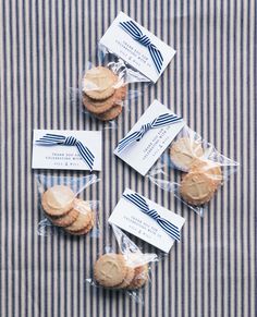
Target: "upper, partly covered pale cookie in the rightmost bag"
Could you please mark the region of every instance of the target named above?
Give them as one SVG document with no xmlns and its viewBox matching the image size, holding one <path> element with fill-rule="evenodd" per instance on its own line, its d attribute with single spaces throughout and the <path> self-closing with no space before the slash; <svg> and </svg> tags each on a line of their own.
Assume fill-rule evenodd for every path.
<svg viewBox="0 0 257 317">
<path fill-rule="evenodd" d="M 195 158 L 199 158 L 204 155 L 201 144 L 189 138 L 181 137 L 174 142 L 170 148 L 170 158 L 174 166 L 187 172 Z"/>
</svg>

